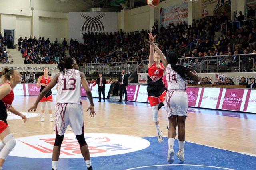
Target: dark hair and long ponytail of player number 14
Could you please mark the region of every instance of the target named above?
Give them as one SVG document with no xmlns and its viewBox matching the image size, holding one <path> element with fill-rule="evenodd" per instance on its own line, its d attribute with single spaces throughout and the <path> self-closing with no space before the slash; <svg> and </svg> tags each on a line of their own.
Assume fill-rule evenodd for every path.
<svg viewBox="0 0 256 170">
<path fill-rule="evenodd" d="M 172 70 L 175 72 L 178 72 L 178 74 L 184 79 L 184 80 L 193 80 L 193 75 L 191 74 L 191 71 L 193 71 L 192 68 L 180 66 L 177 65 L 178 63 L 178 54 L 171 52 L 167 54 L 166 57 L 167 63 L 171 64 Z"/>
</svg>

